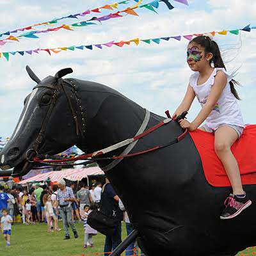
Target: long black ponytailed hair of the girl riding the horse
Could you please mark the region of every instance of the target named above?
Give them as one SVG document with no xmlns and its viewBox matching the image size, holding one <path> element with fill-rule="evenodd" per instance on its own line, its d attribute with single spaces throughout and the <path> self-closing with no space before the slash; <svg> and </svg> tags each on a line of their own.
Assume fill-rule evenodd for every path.
<svg viewBox="0 0 256 256">
<path fill-rule="evenodd" d="M 209 52 L 211 52 L 213 54 L 213 57 L 211 59 L 211 63 L 214 64 L 214 68 L 225 68 L 226 67 L 224 65 L 224 62 L 221 58 L 221 53 L 220 53 L 220 48 L 219 45 L 211 40 L 211 38 L 209 38 L 209 36 L 196 36 L 193 40 L 191 40 L 189 42 L 189 44 L 191 42 L 195 42 L 196 44 L 201 45 L 202 47 L 204 47 L 205 49 L 205 55 Z M 234 86 L 234 84 L 240 85 L 239 82 L 237 82 L 236 80 L 232 79 L 230 82 L 230 90 L 231 92 L 234 94 L 234 96 L 236 97 L 237 100 L 241 100 L 238 96 L 237 90 Z"/>
</svg>

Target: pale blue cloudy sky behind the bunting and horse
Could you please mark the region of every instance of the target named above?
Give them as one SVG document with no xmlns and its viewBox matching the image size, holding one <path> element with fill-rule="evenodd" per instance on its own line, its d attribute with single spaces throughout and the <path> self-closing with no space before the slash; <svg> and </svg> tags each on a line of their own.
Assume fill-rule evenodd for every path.
<svg viewBox="0 0 256 256">
<path fill-rule="evenodd" d="M 143 3 L 151 1 L 143 0 Z M 75 3 L 75 4 L 74 4 Z M 0 33 L 31 26 L 56 17 L 81 13 L 85 10 L 112 4 L 115 1 L 31 1 L 0 0 L 1 23 Z M 135 2 L 120 4 L 118 10 L 124 10 Z M 256 25 L 255 0 L 188 0 L 189 6 L 170 0 L 175 8 L 168 10 L 160 2 L 157 13 L 146 8 L 136 10 L 138 17 L 126 15 L 118 19 L 106 20 L 98 25 L 77 28 L 74 31 L 61 29 L 53 33 L 41 33 L 40 38 L 22 38 L 20 42 L 12 42 L 0 46 L 0 52 L 28 51 L 36 48 L 55 48 L 72 45 L 104 44 L 107 42 L 148 39 L 164 36 L 189 35 L 244 28 Z M 113 12 L 113 11 L 112 11 Z M 102 16 L 111 13 L 93 13 Z M 93 15 L 79 18 L 77 21 L 90 19 Z M 74 19 L 61 20 L 57 25 L 72 24 Z M 49 28 L 41 26 L 37 29 Z M 14 35 L 14 34 L 13 34 Z M 15 35 L 19 35 L 16 33 Z M 3 39 L 2 37 L 1 39 Z M 239 106 L 246 124 L 256 124 L 256 29 L 250 33 L 241 31 L 240 35 L 216 35 L 214 40 L 220 45 L 223 60 L 228 72 L 235 72 L 236 80 L 242 86 L 237 87 L 241 97 Z M 17 54 L 10 60 L 0 59 L 0 137 L 12 135 L 19 120 L 23 102 L 31 92 L 35 82 L 26 73 L 29 65 L 35 74 L 44 79 L 54 76 L 61 68 L 71 67 L 74 72 L 67 77 L 102 83 L 118 90 L 126 97 L 134 100 L 143 108 L 164 116 L 166 109 L 174 113 L 182 101 L 192 71 L 186 63 L 186 47 L 188 40 L 161 40 L 160 44 L 140 42 L 124 47 L 103 47 L 92 51 L 61 51 L 58 54 L 47 52 L 40 54 Z M 200 111 L 200 104 L 195 99 L 189 109 L 188 120 L 193 121 Z"/>
</svg>

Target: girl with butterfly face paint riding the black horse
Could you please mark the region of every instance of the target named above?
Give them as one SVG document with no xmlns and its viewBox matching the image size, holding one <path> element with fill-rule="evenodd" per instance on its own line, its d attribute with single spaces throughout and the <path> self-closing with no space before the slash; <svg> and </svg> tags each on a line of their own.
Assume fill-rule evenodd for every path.
<svg viewBox="0 0 256 256">
<path fill-rule="evenodd" d="M 202 109 L 193 122 L 180 120 L 180 126 L 189 131 L 214 133 L 214 148 L 230 180 L 232 194 L 225 200 L 221 220 L 236 217 L 252 202 L 243 190 L 239 167 L 230 147 L 243 133 L 244 122 L 239 109 L 234 83 L 226 72 L 218 44 L 209 36 L 197 36 L 188 44 L 187 63 L 195 73 L 189 79 L 188 90 L 175 115 L 188 111 L 193 100 Z M 212 67 L 213 66 L 213 67 Z M 205 124 L 200 126 L 205 121 Z"/>
</svg>

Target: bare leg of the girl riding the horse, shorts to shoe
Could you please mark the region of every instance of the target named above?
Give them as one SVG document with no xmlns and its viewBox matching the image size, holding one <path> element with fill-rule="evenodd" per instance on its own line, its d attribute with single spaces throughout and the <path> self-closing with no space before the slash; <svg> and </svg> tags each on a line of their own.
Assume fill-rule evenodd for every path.
<svg viewBox="0 0 256 256">
<path fill-rule="evenodd" d="M 237 132 L 229 126 L 221 126 L 215 131 L 214 147 L 217 156 L 223 164 L 228 179 L 233 189 L 234 195 L 243 195 L 241 175 L 236 158 L 232 154 L 230 147 L 237 140 Z"/>
</svg>

